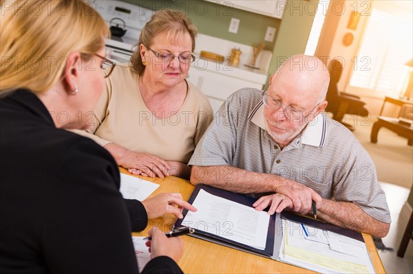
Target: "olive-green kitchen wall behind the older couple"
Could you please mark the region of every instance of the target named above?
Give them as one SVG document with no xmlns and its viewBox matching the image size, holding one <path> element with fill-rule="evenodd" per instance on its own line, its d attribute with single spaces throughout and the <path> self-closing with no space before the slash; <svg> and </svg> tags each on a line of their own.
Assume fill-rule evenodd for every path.
<svg viewBox="0 0 413 274">
<path fill-rule="evenodd" d="M 274 42 L 265 42 L 264 48 L 273 52 L 268 75 L 274 73 L 288 56 L 304 54 L 308 36 L 313 25 L 317 3 L 319 2 L 319 0 L 288 0 L 282 20 L 279 20 L 201 0 L 123 1 L 141 5 L 151 10 L 165 8 L 182 10 L 189 15 L 193 23 L 198 25 L 200 33 L 244 45 L 264 42 L 266 28 L 268 26 L 275 27 L 277 31 L 275 32 Z M 240 27 L 237 34 L 228 32 L 232 17 L 240 19 Z"/>
</svg>

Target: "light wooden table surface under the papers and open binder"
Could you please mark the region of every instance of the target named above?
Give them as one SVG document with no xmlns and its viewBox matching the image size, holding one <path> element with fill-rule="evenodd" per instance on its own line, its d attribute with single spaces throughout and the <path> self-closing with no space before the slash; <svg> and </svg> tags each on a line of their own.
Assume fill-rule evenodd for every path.
<svg viewBox="0 0 413 274">
<path fill-rule="evenodd" d="M 128 174 L 123 168 L 120 172 Z M 130 175 L 130 174 L 129 174 Z M 169 176 L 165 179 L 147 178 L 147 181 L 160 184 L 160 187 L 151 194 L 155 196 L 163 192 L 180 192 L 184 200 L 188 201 L 189 196 L 193 192 L 193 185 L 184 179 L 179 179 L 174 176 Z M 151 197 L 150 196 L 150 197 Z M 160 227 L 164 231 L 169 231 L 176 218 L 173 216 L 165 216 L 164 218 L 156 218 L 149 220 L 145 231 L 133 233 L 134 236 L 147 236 L 147 231 L 153 227 Z M 366 242 L 370 258 L 374 269 L 377 273 L 385 273 L 383 264 L 379 258 L 379 253 L 374 246 L 372 237 L 369 234 L 363 233 L 363 238 Z M 237 249 L 224 247 L 220 244 L 200 240 L 191 236 L 182 236 L 184 241 L 184 255 L 178 262 L 184 273 L 315 273 L 307 269 L 301 269 L 297 266 L 284 264 L 268 258 L 264 258 Z"/>
</svg>

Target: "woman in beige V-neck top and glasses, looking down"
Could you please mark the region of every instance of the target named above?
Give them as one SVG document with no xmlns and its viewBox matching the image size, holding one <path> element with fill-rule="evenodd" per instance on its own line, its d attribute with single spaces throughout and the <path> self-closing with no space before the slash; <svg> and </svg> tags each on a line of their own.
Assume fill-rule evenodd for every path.
<svg viewBox="0 0 413 274">
<path fill-rule="evenodd" d="M 143 28 L 131 63 L 117 65 L 89 135 L 134 174 L 189 178 L 187 166 L 212 119 L 207 97 L 185 78 L 197 28 L 182 12 L 159 10 Z"/>
</svg>

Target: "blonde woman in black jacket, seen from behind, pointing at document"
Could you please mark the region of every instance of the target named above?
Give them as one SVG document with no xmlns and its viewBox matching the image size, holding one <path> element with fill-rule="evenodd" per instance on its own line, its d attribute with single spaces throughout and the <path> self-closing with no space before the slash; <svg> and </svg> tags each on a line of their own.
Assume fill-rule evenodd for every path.
<svg viewBox="0 0 413 274">
<path fill-rule="evenodd" d="M 138 273 L 131 227 L 194 210 L 178 194 L 123 200 L 107 150 L 62 129 L 87 128 L 107 34 L 80 0 L 1 1 L 0 273 Z M 182 272 L 180 239 L 149 244 L 143 273 Z"/>
</svg>

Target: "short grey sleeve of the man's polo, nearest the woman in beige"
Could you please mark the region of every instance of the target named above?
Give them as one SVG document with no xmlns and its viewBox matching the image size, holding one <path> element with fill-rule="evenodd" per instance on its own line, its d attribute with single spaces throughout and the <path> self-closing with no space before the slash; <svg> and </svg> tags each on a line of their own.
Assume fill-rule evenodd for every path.
<svg viewBox="0 0 413 274">
<path fill-rule="evenodd" d="M 239 93 L 231 95 L 215 113 L 195 148 L 189 165 L 231 165 L 237 142 Z"/>
</svg>

